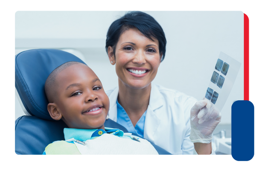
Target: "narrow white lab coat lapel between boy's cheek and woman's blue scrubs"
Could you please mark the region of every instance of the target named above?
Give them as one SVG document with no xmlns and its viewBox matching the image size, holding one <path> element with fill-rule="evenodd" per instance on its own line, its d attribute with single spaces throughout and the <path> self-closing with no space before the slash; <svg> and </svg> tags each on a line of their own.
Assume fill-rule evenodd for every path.
<svg viewBox="0 0 256 170">
<path fill-rule="evenodd" d="M 113 92 L 108 96 L 109 98 L 109 111 L 108 111 L 108 116 L 109 119 L 113 121 L 117 121 L 117 106 L 116 106 L 116 100 L 118 97 L 119 93 L 119 88 L 116 87 L 113 89 Z"/>
</svg>

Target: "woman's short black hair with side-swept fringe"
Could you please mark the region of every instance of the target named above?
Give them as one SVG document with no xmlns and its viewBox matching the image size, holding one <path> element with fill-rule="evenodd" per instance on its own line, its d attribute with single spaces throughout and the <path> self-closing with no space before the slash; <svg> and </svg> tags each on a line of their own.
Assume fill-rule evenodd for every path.
<svg viewBox="0 0 256 170">
<path fill-rule="evenodd" d="M 145 37 L 152 41 L 154 40 L 151 37 L 158 40 L 159 52 L 160 54 L 163 53 L 161 58 L 162 62 L 166 53 L 166 37 L 163 28 L 153 17 L 141 11 L 129 12 L 111 24 L 108 28 L 105 46 L 107 53 L 108 46 L 111 46 L 113 48 L 113 53 L 115 54 L 116 43 L 118 42 L 120 35 L 129 28 L 137 28 L 145 35 Z"/>
</svg>

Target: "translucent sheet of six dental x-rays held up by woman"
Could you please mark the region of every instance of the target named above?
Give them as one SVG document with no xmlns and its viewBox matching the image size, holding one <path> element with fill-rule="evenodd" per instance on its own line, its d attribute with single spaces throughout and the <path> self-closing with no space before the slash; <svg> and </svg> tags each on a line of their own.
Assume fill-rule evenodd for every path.
<svg viewBox="0 0 256 170">
<path fill-rule="evenodd" d="M 209 99 L 220 112 L 227 101 L 240 66 L 240 62 L 223 52 L 220 53 L 205 94 L 205 98 Z"/>
</svg>

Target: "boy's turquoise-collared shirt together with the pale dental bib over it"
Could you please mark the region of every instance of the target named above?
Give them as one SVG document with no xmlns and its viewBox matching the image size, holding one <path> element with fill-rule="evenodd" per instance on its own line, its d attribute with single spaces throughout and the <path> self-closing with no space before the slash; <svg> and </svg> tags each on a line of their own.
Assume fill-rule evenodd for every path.
<svg viewBox="0 0 256 170">
<path fill-rule="evenodd" d="M 49 144 L 43 156 L 158 156 L 145 139 L 122 130 L 64 128 L 65 141 Z"/>
</svg>

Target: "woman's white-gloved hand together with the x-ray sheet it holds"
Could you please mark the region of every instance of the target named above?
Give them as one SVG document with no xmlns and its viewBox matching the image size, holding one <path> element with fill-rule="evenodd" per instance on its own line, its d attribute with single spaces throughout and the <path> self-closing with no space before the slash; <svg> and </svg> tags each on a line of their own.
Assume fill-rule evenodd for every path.
<svg viewBox="0 0 256 170">
<path fill-rule="evenodd" d="M 190 139 L 193 143 L 212 141 L 212 132 L 221 122 L 220 112 L 227 101 L 240 66 L 240 62 L 220 52 L 204 99 L 196 102 L 191 109 Z"/>
</svg>

